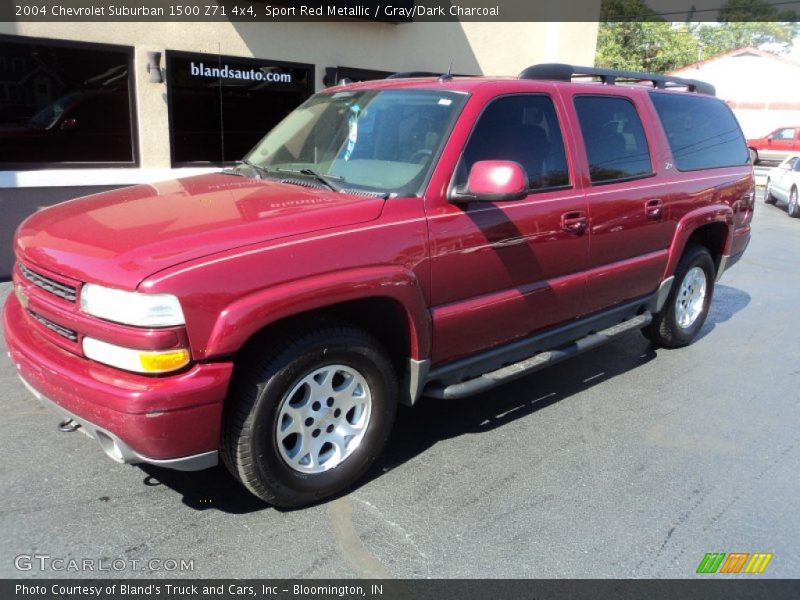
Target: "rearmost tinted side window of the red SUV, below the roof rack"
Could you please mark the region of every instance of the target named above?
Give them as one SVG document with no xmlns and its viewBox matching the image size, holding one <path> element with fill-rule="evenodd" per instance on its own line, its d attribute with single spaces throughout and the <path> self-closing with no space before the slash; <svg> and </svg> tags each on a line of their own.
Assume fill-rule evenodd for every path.
<svg viewBox="0 0 800 600">
<path fill-rule="evenodd" d="M 723 102 L 690 94 L 650 94 L 679 171 L 746 164 L 747 145 Z"/>
</svg>

